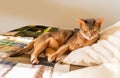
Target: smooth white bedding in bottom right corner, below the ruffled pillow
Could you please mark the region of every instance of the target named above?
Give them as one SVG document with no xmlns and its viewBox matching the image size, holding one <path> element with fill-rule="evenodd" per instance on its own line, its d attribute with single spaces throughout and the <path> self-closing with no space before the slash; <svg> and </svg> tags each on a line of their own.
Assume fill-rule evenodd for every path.
<svg viewBox="0 0 120 78">
<path fill-rule="evenodd" d="M 120 64 L 105 63 L 100 66 L 91 66 L 73 70 L 62 74 L 58 78 L 119 78 Z"/>
</svg>

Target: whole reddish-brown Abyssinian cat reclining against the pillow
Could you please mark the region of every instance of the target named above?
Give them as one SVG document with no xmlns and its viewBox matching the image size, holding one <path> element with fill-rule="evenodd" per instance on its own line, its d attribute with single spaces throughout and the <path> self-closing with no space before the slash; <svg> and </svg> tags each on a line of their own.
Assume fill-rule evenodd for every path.
<svg viewBox="0 0 120 78">
<path fill-rule="evenodd" d="M 38 36 L 16 54 L 23 54 L 33 49 L 31 54 L 32 64 L 39 63 L 38 55 L 43 51 L 49 62 L 59 61 L 58 57 L 64 53 L 95 43 L 99 38 L 102 21 L 102 18 L 78 19 L 80 27 L 78 31 L 59 29 L 55 32 L 47 32 Z"/>
</svg>

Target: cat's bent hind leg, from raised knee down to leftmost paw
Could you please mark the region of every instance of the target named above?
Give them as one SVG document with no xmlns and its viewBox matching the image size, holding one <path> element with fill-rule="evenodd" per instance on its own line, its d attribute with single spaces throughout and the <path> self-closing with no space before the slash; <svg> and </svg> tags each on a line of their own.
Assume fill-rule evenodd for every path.
<svg viewBox="0 0 120 78">
<path fill-rule="evenodd" d="M 41 41 L 39 44 L 37 44 L 34 47 L 34 51 L 31 54 L 31 62 L 33 64 L 38 64 L 39 61 L 37 57 L 45 49 L 46 49 L 47 55 L 49 56 L 51 53 L 54 53 L 55 50 L 57 50 L 58 48 L 59 48 L 59 44 L 53 37 L 49 37 L 47 40 Z"/>
</svg>

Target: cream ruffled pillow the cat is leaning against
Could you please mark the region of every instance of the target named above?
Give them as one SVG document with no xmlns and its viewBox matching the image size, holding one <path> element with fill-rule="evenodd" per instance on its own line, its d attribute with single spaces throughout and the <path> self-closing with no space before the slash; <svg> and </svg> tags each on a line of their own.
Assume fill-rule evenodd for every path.
<svg viewBox="0 0 120 78">
<path fill-rule="evenodd" d="M 101 37 L 92 46 L 72 51 L 63 59 L 64 63 L 80 66 L 100 65 L 120 61 L 120 23 L 101 31 Z"/>
</svg>

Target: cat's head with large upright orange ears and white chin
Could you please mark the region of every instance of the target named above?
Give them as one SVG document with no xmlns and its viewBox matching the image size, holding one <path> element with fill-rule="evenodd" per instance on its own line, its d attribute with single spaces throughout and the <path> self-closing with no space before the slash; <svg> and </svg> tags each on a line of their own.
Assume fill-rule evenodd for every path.
<svg viewBox="0 0 120 78">
<path fill-rule="evenodd" d="M 87 40 L 96 38 L 99 35 L 103 19 L 78 19 L 80 25 L 80 34 Z"/>
</svg>

